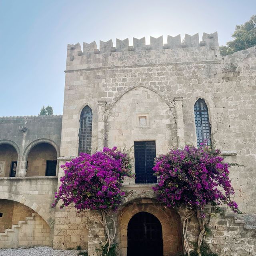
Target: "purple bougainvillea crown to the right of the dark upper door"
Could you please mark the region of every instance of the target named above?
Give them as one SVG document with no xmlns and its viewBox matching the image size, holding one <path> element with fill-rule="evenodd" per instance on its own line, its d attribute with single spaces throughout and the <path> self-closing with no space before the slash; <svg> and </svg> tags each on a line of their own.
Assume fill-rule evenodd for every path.
<svg viewBox="0 0 256 256">
<path fill-rule="evenodd" d="M 228 167 L 220 150 L 205 145 L 172 149 L 155 160 L 153 170 L 158 184 L 153 189 L 168 207 L 186 204 L 203 212 L 208 203 L 214 206 L 226 203 L 240 213 L 231 199 L 234 189 Z"/>
</svg>

